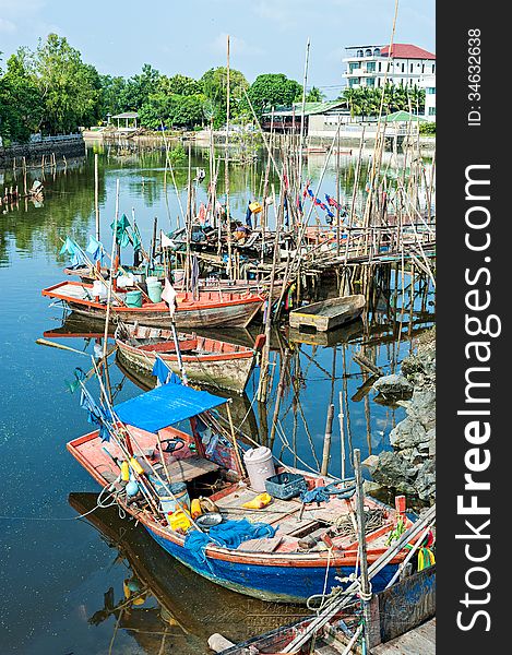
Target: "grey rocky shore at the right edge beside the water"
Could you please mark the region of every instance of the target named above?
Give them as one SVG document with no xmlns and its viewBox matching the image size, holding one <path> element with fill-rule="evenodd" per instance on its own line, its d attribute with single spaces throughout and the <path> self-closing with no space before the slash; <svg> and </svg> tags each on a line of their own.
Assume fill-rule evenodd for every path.
<svg viewBox="0 0 512 655">
<path fill-rule="evenodd" d="M 436 331 L 424 333 L 415 355 L 406 357 L 397 376 L 380 378 L 374 389 L 403 405 L 406 417 L 390 434 L 393 451 L 371 455 L 365 464 L 373 483 L 369 490 L 392 488 L 436 499 Z"/>
</svg>

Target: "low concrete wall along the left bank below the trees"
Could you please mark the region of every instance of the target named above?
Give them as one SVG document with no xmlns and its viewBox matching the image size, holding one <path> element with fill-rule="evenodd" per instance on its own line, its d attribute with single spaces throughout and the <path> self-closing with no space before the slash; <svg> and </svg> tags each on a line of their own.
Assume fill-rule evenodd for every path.
<svg viewBox="0 0 512 655">
<path fill-rule="evenodd" d="M 16 166 L 21 167 L 23 157 L 27 164 L 40 162 L 45 156 L 51 157 L 55 153 L 56 159 L 62 157 L 83 157 L 85 156 L 85 142 L 82 134 L 70 134 L 69 136 L 58 136 L 44 139 L 32 143 L 11 145 L 0 147 L 0 168 L 12 166 L 16 159 Z M 49 159 L 48 164 L 50 164 Z"/>
</svg>

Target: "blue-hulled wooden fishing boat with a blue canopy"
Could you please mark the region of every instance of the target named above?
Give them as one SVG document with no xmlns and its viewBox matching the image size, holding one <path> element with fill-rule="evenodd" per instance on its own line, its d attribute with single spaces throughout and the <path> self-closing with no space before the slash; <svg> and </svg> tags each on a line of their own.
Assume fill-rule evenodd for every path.
<svg viewBox="0 0 512 655">
<path fill-rule="evenodd" d="M 259 491 L 251 487 L 251 478 L 245 476 L 241 468 L 241 444 L 227 441 L 228 433 L 214 417 L 214 408 L 225 402 L 206 392 L 166 384 L 114 407 L 111 439 L 107 444 L 99 431 L 94 431 L 71 441 L 68 449 L 167 552 L 200 575 L 236 592 L 279 603 L 301 604 L 313 594 L 343 587 L 347 584 L 343 577 L 354 572 L 358 561 L 358 541 L 353 527 L 354 498 L 347 498 L 349 492 L 333 481 L 331 490 L 335 495 L 329 503 L 303 505 L 295 498 L 274 498 L 264 509 L 243 508 Z M 175 427 L 179 424 L 181 428 L 187 419 L 191 434 Z M 176 448 L 177 440 L 181 440 L 186 449 L 179 458 L 176 450 L 168 454 L 162 448 L 167 443 Z M 120 481 L 123 460 L 130 461 L 139 485 L 140 493 L 135 497 L 130 498 L 128 487 Z M 284 469 L 277 467 L 277 472 Z M 320 483 L 319 476 L 296 469 L 286 472 L 288 476 L 294 473 L 303 476 L 310 488 Z M 265 532 L 269 536 L 242 539 L 238 547 L 228 548 L 218 541 L 209 541 L 209 535 L 200 529 L 190 528 L 184 534 L 183 529 L 171 527 L 174 515 L 166 515 L 162 505 L 158 507 L 155 491 L 157 481 L 162 486 L 164 479 L 186 483 L 190 498 L 204 496 L 205 489 L 214 490 L 209 499 L 216 504 L 223 520 L 246 519 L 250 525 L 263 521 L 264 531 L 271 528 Z M 202 484 L 204 481 L 207 484 Z M 168 489 L 165 484 L 164 488 Z M 406 526 L 409 522 L 397 510 L 374 499 L 367 498 L 365 504 L 371 563 L 388 550 L 386 543 L 398 519 Z M 231 526 L 229 523 L 226 527 L 231 529 Z M 303 549 L 301 543 L 306 535 L 318 539 L 318 543 L 313 539 L 314 546 L 309 549 Z M 320 544 L 324 535 L 330 535 L 330 548 Z M 205 538 L 199 547 L 198 537 Z M 405 555 L 406 551 L 400 550 L 374 575 L 373 591 L 385 587 Z"/>
</svg>

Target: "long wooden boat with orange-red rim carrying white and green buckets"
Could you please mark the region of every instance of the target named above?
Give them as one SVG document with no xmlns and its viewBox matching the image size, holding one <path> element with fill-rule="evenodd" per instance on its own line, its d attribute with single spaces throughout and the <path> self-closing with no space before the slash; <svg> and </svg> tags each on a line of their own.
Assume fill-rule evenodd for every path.
<svg viewBox="0 0 512 655">
<path fill-rule="evenodd" d="M 43 296 L 63 301 L 71 310 L 92 319 L 105 320 L 107 302 L 93 296 L 93 285 L 81 282 L 61 282 L 43 289 Z M 142 307 L 124 303 L 124 294 L 112 296 L 110 318 L 114 321 L 136 322 L 156 327 L 170 326 L 169 308 L 166 302 L 145 301 Z M 178 327 L 194 329 L 201 325 L 246 327 L 263 306 L 263 298 L 257 294 L 235 291 L 199 291 L 198 299 L 192 294 L 178 293 L 175 322 Z"/>
</svg>

